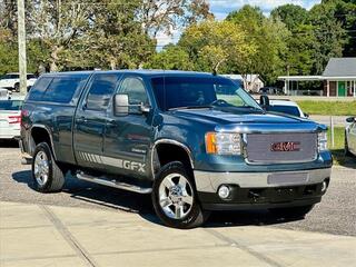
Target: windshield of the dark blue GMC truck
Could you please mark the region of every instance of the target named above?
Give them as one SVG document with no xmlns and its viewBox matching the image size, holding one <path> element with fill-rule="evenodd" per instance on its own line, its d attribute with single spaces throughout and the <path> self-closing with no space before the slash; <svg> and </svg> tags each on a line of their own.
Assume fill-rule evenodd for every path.
<svg viewBox="0 0 356 267">
<path fill-rule="evenodd" d="M 257 109 L 258 103 L 236 82 L 221 77 L 159 77 L 151 79 L 161 110 L 219 108 L 229 112 Z"/>
</svg>

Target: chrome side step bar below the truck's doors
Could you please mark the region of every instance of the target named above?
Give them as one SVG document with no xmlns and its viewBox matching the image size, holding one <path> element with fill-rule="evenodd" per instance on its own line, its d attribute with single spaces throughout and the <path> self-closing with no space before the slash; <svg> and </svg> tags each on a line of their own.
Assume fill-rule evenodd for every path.
<svg viewBox="0 0 356 267">
<path fill-rule="evenodd" d="M 145 187 L 134 186 L 134 185 L 129 185 L 129 184 L 120 182 L 116 180 L 108 180 L 105 177 L 100 178 L 100 177 L 89 176 L 83 172 L 77 174 L 77 178 L 80 180 L 87 180 L 87 181 L 91 181 L 102 186 L 115 187 L 115 188 L 139 192 L 139 194 L 150 194 L 152 191 L 152 188 L 145 188 Z"/>
</svg>

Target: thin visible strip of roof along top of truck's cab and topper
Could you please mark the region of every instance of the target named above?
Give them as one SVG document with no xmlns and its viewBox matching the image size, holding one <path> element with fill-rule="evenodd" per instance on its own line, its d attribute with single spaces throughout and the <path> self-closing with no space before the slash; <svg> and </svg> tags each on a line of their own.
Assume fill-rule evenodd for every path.
<svg viewBox="0 0 356 267">
<path fill-rule="evenodd" d="M 55 76 L 77 76 L 86 77 L 92 73 L 132 73 L 147 77 L 157 76 L 199 76 L 199 77 L 214 77 L 212 73 L 197 72 L 197 71 L 182 71 L 182 70 L 92 70 L 92 71 L 65 71 L 65 72 L 50 72 L 44 73 L 42 77 L 55 77 Z"/>
</svg>

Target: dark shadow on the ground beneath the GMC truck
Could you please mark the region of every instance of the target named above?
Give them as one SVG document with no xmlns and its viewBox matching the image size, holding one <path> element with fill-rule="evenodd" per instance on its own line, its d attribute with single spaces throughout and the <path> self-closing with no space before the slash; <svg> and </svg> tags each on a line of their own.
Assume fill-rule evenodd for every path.
<svg viewBox="0 0 356 267">
<path fill-rule="evenodd" d="M 27 186 L 34 190 L 33 181 L 31 178 L 30 170 L 23 170 L 12 174 L 12 179 L 17 182 L 27 184 Z M 109 188 L 92 182 L 87 182 L 83 180 L 78 180 L 71 176 L 66 177 L 66 185 L 62 189 L 61 195 L 69 195 L 71 199 L 81 201 L 83 205 L 90 208 L 100 206 L 101 208 L 112 209 L 112 210 L 123 210 L 127 212 L 138 214 L 142 219 L 148 220 L 152 224 L 161 225 L 160 220 L 155 215 L 151 198 L 149 195 L 140 195 L 135 192 L 129 192 L 120 189 Z M 43 199 L 41 195 L 37 200 L 48 205 L 60 205 L 50 200 L 46 202 L 48 198 L 43 194 Z M 58 199 L 62 199 L 58 198 Z M 62 199 L 63 200 L 63 199 Z M 80 206 L 79 202 L 75 206 Z M 62 205 L 66 205 L 62 204 Z M 61 205 L 61 206 L 62 206 Z M 73 206 L 73 204 L 70 204 Z M 204 227 L 233 227 L 233 226 L 264 226 L 264 225 L 277 225 L 285 224 L 294 220 L 299 220 L 303 218 L 285 219 L 271 215 L 267 210 L 244 210 L 244 211 L 215 211 L 211 214 L 210 218 Z"/>
</svg>

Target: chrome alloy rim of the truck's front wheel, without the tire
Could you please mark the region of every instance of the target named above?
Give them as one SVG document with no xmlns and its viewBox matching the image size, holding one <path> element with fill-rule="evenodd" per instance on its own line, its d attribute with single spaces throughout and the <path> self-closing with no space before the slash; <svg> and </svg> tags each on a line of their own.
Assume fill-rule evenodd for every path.
<svg viewBox="0 0 356 267">
<path fill-rule="evenodd" d="M 194 191 L 189 180 L 180 174 L 170 174 L 159 186 L 159 205 L 171 219 L 182 219 L 191 210 Z"/>
</svg>

